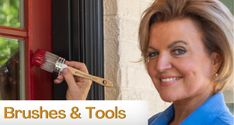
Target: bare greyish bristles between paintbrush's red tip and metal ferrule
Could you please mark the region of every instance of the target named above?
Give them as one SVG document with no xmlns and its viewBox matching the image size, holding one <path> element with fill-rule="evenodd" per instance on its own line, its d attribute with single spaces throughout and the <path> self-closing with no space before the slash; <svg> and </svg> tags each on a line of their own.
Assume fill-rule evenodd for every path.
<svg viewBox="0 0 234 125">
<path fill-rule="evenodd" d="M 58 60 L 59 56 L 46 52 L 45 54 L 45 62 L 41 65 L 41 69 L 46 70 L 48 72 L 55 71 L 55 63 Z"/>
</svg>

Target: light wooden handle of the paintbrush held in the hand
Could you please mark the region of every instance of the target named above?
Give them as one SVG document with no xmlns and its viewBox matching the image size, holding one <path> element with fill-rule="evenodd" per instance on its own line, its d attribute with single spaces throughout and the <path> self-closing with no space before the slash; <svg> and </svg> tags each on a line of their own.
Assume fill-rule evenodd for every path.
<svg viewBox="0 0 234 125">
<path fill-rule="evenodd" d="M 93 76 L 93 75 L 90 75 L 90 74 L 87 74 L 87 73 L 84 73 L 78 69 L 75 69 L 75 68 L 72 68 L 70 66 L 67 67 L 73 75 L 75 76 L 79 76 L 79 77 L 82 77 L 82 78 L 86 78 L 86 79 L 89 79 L 89 80 L 92 80 L 100 85 L 103 85 L 105 87 L 113 87 L 113 84 L 111 83 L 111 81 L 107 80 L 107 79 L 104 79 L 104 78 L 101 78 L 101 77 L 97 77 L 97 76 Z"/>
</svg>

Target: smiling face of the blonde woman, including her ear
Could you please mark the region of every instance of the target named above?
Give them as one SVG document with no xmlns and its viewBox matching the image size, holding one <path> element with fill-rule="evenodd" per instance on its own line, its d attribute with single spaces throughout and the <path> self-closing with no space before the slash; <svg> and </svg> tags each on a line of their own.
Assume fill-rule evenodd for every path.
<svg viewBox="0 0 234 125">
<path fill-rule="evenodd" d="M 214 59 L 191 19 L 151 26 L 147 70 L 164 101 L 175 102 L 212 92 Z"/>
</svg>

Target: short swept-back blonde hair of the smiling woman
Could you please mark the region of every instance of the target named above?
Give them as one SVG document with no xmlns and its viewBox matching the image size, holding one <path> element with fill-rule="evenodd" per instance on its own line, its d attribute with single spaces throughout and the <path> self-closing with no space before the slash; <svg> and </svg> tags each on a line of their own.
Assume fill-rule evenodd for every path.
<svg viewBox="0 0 234 125">
<path fill-rule="evenodd" d="M 146 59 L 149 31 L 152 24 L 174 19 L 190 18 L 203 33 L 208 53 L 217 52 L 222 64 L 217 72 L 215 92 L 233 82 L 234 20 L 233 15 L 219 0 L 156 0 L 145 10 L 139 28 L 142 56 Z"/>
</svg>

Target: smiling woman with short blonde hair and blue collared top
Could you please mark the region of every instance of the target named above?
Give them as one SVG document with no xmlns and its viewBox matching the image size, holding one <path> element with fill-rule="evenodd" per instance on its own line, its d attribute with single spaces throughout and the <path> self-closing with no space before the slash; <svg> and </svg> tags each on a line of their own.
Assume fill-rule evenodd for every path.
<svg viewBox="0 0 234 125">
<path fill-rule="evenodd" d="M 173 104 L 150 125 L 233 125 L 220 93 L 233 78 L 233 16 L 218 0 L 156 0 L 139 29 L 148 73 Z"/>
</svg>

